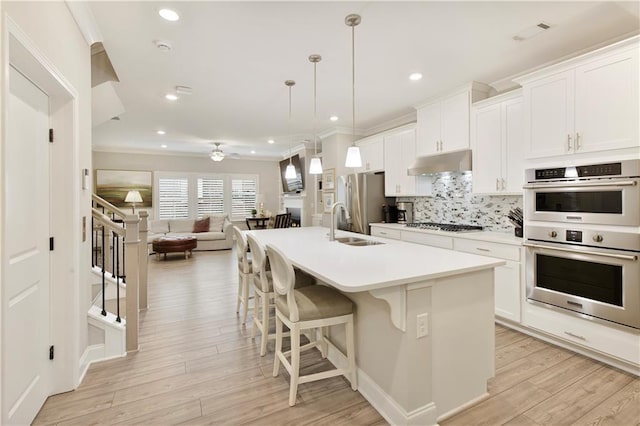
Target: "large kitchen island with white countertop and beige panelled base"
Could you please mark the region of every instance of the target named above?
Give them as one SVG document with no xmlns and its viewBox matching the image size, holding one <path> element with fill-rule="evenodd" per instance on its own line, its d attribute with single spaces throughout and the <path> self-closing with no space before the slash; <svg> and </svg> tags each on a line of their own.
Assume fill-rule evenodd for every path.
<svg viewBox="0 0 640 426">
<path fill-rule="evenodd" d="M 504 261 L 327 228 L 248 231 L 356 305 L 360 393 L 392 424 L 435 425 L 487 395 L 494 374 L 493 270 Z M 331 338 L 342 346 L 340 330 Z M 346 360 L 337 351 L 329 359 Z"/>
</svg>

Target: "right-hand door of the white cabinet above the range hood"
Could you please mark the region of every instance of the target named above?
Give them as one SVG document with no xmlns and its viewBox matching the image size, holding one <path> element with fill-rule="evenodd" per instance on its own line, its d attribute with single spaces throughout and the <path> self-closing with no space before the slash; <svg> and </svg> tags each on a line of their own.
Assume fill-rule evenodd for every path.
<svg viewBox="0 0 640 426">
<path fill-rule="evenodd" d="M 444 99 L 440 105 L 440 151 L 469 148 L 469 92 Z"/>
</svg>

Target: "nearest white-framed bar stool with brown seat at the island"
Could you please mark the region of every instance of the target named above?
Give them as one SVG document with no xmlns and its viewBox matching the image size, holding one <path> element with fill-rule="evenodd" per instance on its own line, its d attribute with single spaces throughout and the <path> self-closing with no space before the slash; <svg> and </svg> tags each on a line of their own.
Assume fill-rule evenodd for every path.
<svg viewBox="0 0 640 426">
<path fill-rule="evenodd" d="M 358 389 L 356 377 L 355 343 L 353 335 L 353 302 L 342 293 L 324 285 L 294 288 L 295 273 L 287 257 L 273 245 L 267 245 L 267 256 L 271 265 L 273 288 L 276 292 L 276 353 L 273 361 L 273 377 L 278 376 L 280 363 L 289 372 L 289 405 L 294 406 L 298 384 L 335 376 L 344 376 L 351 383 L 351 389 Z M 282 324 L 291 332 L 291 350 L 282 352 Z M 347 368 L 336 368 L 315 374 L 300 376 L 300 352 L 319 347 L 323 358 L 327 355 L 326 328 L 344 324 L 347 346 Z M 300 346 L 300 330 L 311 330 L 316 340 Z M 320 336 L 315 329 L 320 329 Z M 344 354 L 343 354 L 344 355 Z M 291 362 L 287 359 L 291 357 Z"/>
</svg>

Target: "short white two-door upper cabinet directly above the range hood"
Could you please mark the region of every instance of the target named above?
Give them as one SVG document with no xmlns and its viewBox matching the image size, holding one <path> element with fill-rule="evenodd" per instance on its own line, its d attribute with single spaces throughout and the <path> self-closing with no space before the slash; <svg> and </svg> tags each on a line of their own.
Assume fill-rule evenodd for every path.
<svg viewBox="0 0 640 426">
<path fill-rule="evenodd" d="M 489 86 L 473 82 L 417 109 L 418 156 L 469 148 L 469 111 L 472 102 L 487 97 Z"/>
</svg>

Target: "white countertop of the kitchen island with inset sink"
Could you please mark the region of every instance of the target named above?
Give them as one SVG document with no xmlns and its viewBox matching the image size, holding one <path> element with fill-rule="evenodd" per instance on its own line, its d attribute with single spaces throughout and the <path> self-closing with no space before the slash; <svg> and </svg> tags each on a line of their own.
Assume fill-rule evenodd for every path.
<svg viewBox="0 0 640 426">
<path fill-rule="evenodd" d="M 329 241 L 329 230 L 323 227 L 248 232 L 263 245 L 273 244 L 280 248 L 296 267 L 348 293 L 433 280 L 505 264 L 500 259 L 485 256 L 336 231 L 336 238 L 353 236 L 384 242 L 350 246 Z"/>
</svg>

